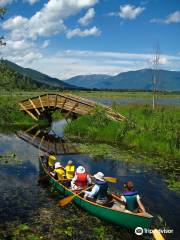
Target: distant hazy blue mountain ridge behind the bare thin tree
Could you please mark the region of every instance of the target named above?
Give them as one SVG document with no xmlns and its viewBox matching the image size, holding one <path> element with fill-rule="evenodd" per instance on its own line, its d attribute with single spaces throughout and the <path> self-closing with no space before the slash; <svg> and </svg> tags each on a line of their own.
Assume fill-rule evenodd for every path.
<svg viewBox="0 0 180 240">
<path fill-rule="evenodd" d="M 152 69 L 123 72 L 116 76 L 79 75 L 65 82 L 90 89 L 152 90 Z M 180 91 L 180 72 L 158 70 L 157 90 Z"/>
</svg>

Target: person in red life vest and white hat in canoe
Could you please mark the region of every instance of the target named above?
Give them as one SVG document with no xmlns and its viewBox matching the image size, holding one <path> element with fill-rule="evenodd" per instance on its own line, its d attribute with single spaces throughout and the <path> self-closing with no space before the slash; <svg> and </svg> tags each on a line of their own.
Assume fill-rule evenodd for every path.
<svg viewBox="0 0 180 240">
<path fill-rule="evenodd" d="M 91 178 L 83 166 L 76 169 L 75 176 L 71 180 L 71 189 L 80 190 L 91 184 Z"/>
</svg>

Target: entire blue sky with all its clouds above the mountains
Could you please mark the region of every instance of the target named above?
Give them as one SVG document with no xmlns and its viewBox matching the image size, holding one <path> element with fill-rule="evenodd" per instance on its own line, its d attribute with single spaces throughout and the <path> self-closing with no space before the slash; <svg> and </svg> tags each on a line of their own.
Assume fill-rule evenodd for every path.
<svg viewBox="0 0 180 240">
<path fill-rule="evenodd" d="M 180 70 L 179 0 L 0 0 L 1 56 L 60 79 L 151 68 Z"/>
</svg>

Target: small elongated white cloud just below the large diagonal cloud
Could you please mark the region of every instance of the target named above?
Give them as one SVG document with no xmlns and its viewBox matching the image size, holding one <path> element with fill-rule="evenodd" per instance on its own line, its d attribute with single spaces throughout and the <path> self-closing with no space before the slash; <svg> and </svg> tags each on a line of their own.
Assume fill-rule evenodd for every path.
<svg viewBox="0 0 180 240">
<path fill-rule="evenodd" d="M 73 30 L 68 30 L 66 37 L 68 39 L 72 38 L 72 37 L 87 37 L 87 36 L 99 36 L 101 34 L 101 31 L 96 27 L 92 27 L 90 29 L 85 29 L 85 30 L 81 30 L 79 28 L 75 28 Z"/>
</svg>

